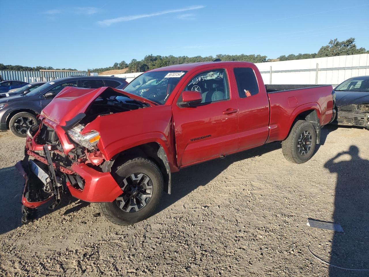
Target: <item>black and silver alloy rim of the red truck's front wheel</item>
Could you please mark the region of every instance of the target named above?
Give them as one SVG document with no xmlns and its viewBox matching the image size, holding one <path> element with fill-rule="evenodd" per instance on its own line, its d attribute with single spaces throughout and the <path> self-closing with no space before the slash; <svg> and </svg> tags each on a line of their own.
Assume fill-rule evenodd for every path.
<svg viewBox="0 0 369 277">
<path fill-rule="evenodd" d="M 115 202 L 124 212 L 138 212 L 144 208 L 152 196 L 151 179 L 143 173 L 133 173 L 123 179 L 120 184 L 123 194 Z"/>
</svg>

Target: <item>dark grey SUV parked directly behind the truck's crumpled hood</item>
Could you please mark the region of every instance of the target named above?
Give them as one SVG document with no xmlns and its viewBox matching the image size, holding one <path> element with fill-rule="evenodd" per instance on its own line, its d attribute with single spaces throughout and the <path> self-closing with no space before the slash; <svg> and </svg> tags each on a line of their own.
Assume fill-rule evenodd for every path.
<svg viewBox="0 0 369 277">
<path fill-rule="evenodd" d="M 0 98 L 0 131 L 10 129 L 18 137 L 27 137 L 27 130 L 37 123 L 36 116 L 67 86 L 122 89 L 127 84 L 124 78 L 118 77 L 75 76 L 47 82 L 26 94 Z"/>
</svg>

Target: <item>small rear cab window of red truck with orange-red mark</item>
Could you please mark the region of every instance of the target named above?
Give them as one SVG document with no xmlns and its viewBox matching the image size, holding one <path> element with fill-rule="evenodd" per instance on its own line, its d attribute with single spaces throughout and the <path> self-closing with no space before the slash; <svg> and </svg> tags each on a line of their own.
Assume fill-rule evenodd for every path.
<svg viewBox="0 0 369 277">
<path fill-rule="evenodd" d="M 233 69 L 240 98 L 247 98 L 259 93 L 258 81 L 252 68 L 239 67 Z"/>
</svg>

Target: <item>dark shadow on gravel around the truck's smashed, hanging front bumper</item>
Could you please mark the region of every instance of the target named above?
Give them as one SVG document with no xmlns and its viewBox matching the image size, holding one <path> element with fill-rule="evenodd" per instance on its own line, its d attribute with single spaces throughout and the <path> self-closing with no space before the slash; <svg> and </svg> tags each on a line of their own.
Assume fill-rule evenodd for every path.
<svg viewBox="0 0 369 277">
<path fill-rule="evenodd" d="M 0 168 L 0 235 L 21 226 L 21 199 L 24 188 L 24 179 L 15 167 Z M 50 210 L 51 205 L 46 203 L 37 209 L 37 218 L 56 211 L 66 205 L 76 202 L 77 199 L 70 195 L 62 194 L 61 202 L 55 210 Z M 77 212 L 89 205 L 82 202 L 68 209 L 64 214 Z"/>
</svg>

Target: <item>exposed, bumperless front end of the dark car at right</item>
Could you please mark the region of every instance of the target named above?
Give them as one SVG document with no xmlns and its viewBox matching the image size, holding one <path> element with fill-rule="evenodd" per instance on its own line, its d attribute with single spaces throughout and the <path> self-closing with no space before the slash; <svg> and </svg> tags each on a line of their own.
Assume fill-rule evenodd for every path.
<svg viewBox="0 0 369 277">
<path fill-rule="evenodd" d="M 369 104 L 351 104 L 337 107 L 333 124 L 360 126 L 369 130 Z"/>
</svg>

